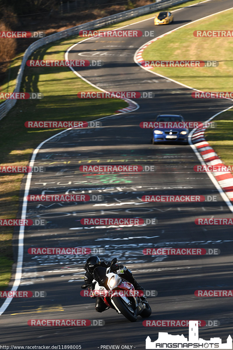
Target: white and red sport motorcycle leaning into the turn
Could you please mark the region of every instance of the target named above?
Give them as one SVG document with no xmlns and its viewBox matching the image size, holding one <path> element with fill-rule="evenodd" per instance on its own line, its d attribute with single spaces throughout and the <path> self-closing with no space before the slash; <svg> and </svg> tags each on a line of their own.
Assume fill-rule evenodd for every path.
<svg viewBox="0 0 233 350">
<path fill-rule="evenodd" d="M 144 295 L 139 296 L 138 292 L 143 294 L 142 290 L 137 292 L 131 283 L 122 279 L 118 274 L 110 272 L 111 266 L 116 264 L 117 259 L 111 261 L 109 268 L 96 267 L 93 272 L 93 290 L 95 296 L 100 296 L 107 307 L 122 314 L 131 322 L 137 321 L 137 316 L 143 318 L 151 315 L 151 307 Z M 83 284 L 82 289 L 90 285 Z"/>
</svg>

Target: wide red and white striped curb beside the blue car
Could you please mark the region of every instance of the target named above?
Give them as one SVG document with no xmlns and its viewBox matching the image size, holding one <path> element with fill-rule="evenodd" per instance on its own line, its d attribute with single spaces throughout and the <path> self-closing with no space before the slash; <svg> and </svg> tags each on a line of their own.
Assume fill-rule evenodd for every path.
<svg viewBox="0 0 233 350">
<path fill-rule="evenodd" d="M 217 153 L 204 138 L 205 127 L 197 128 L 192 134 L 192 143 L 197 148 L 205 164 L 208 165 L 225 165 L 218 157 Z M 233 175 L 231 172 L 212 172 L 219 186 L 231 202 L 233 202 Z"/>
</svg>

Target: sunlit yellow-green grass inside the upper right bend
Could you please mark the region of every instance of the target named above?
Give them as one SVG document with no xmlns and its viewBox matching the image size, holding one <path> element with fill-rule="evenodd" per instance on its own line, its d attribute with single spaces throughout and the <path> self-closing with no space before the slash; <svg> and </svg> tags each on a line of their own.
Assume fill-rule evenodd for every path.
<svg viewBox="0 0 233 350">
<path fill-rule="evenodd" d="M 213 60 L 217 67 L 159 67 L 154 72 L 202 91 L 231 91 L 233 46 L 230 37 L 195 37 L 194 30 L 231 28 L 233 10 L 213 15 L 160 38 L 143 51 L 145 60 Z M 169 31 L 169 27 L 168 27 Z"/>
</svg>

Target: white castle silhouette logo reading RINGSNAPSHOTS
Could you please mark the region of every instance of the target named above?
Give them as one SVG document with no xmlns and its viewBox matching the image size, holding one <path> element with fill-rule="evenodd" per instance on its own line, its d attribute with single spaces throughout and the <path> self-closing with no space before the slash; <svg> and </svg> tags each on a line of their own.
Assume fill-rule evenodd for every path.
<svg viewBox="0 0 233 350">
<path fill-rule="evenodd" d="M 204 340 L 198 338 L 198 321 L 189 321 L 189 339 L 182 335 L 171 335 L 159 332 L 158 339 L 151 341 L 146 338 L 146 349 L 232 349 L 232 337 L 229 335 L 226 343 L 221 338 L 210 338 Z"/>
</svg>

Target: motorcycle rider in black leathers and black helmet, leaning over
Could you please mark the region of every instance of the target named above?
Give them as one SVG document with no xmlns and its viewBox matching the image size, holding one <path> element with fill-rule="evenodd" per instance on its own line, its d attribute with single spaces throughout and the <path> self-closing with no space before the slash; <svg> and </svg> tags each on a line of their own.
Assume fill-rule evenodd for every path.
<svg viewBox="0 0 233 350">
<path fill-rule="evenodd" d="M 95 283 L 92 284 L 93 281 L 93 271 L 96 267 L 101 266 L 101 267 L 110 267 L 111 262 L 110 261 L 100 261 L 100 258 L 97 255 L 92 255 L 90 256 L 87 261 L 85 266 L 83 267 L 86 270 L 85 276 L 84 276 L 84 281 L 86 285 L 88 285 L 88 289 L 94 290 L 95 289 Z M 127 282 L 131 283 L 136 290 L 144 290 L 143 287 L 141 287 L 136 279 L 134 278 L 132 272 L 124 265 L 117 265 L 114 264 L 111 266 L 111 272 L 117 273 L 121 275 L 121 277 L 126 280 Z M 107 309 L 109 309 L 109 306 L 107 306 L 103 299 L 100 296 L 95 296 L 94 292 L 92 295 L 90 295 L 92 298 L 96 298 L 95 302 L 95 310 L 97 312 L 103 312 Z"/>
</svg>

